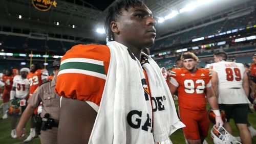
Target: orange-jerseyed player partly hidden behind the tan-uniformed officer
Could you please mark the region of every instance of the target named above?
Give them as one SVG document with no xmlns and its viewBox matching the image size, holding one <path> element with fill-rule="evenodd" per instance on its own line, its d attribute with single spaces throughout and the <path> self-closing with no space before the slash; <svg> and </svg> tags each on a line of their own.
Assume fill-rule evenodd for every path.
<svg viewBox="0 0 256 144">
<path fill-rule="evenodd" d="M 33 63 L 30 67 L 30 72 L 27 76 L 27 79 L 29 80 L 30 87 L 29 87 L 29 98 L 32 96 L 33 92 L 36 90 L 36 88 L 47 81 L 48 78 L 48 71 L 46 69 L 42 69 L 41 65 L 39 63 Z M 36 113 L 36 112 L 34 112 Z M 30 134 L 27 137 L 27 139 L 24 140 L 24 142 L 28 142 L 32 140 L 35 137 L 35 122 L 34 122 L 34 115 L 31 117 L 31 129 Z"/>
</svg>

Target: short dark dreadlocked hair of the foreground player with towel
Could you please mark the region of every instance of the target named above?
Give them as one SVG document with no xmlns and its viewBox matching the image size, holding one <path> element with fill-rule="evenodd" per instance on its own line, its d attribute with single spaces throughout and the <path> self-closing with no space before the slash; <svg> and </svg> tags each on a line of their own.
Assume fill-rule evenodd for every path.
<svg viewBox="0 0 256 144">
<path fill-rule="evenodd" d="M 115 3 L 115 5 L 109 8 L 108 14 L 106 15 L 104 28 L 106 31 L 106 38 L 109 41 L 115 40 L 114 33 L 112 32 L 110 25 L 112 21 L 117 21 L 118 17 L 121 15 L 122 9 L 128 11 L 129 7 L 135 6 L 144 6 L 144 2 L 142 0 L 119 0 Z"/>
</svg>

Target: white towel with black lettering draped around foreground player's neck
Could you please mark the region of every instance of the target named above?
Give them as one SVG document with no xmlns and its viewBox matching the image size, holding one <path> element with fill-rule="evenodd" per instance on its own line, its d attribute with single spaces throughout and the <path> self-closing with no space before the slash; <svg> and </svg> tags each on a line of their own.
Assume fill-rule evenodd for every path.
<svg viewBox="0 0 256 144">
<path fill-rule="evenodd" d="M 157 63 L 143 54 L 149 62 L 143 68 L 151 89 L 150 101 L 140 61 L 116 41 L 107 45 L 110 66 L 89 143 L 155 143 L 184 127 Z"/>
</svg>

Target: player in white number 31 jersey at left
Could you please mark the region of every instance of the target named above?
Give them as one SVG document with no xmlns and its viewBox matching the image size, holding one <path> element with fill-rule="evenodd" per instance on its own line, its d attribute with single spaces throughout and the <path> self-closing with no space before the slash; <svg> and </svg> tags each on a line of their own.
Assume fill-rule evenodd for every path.
<svg viewBox="0 0 256 144">
<path fill-rule="evenodd" d="M 29 80 L 27 79 L 27 76 L 29 74 L 29 68 L 22 68 L 20 69 L 20 75 L 16 75 L 13 78 L 13 85 L 12 90 L 10 93 L 10 100 L 11 105 L 15 108 L 18 108 L 19 106 L 22 108 L 22 112 L 26 108 L 26 98 L 28 98 L 29 95 Z M 12 131 L 11 131 L 11 137 L 16 138 L 16 123 L 17 123 L 18 115 L 12 116 Z"/>
</svg>

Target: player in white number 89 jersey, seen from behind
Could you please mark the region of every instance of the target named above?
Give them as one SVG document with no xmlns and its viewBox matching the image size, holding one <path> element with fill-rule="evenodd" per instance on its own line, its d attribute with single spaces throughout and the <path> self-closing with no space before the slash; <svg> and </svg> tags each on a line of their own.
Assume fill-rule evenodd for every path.
<svg viewBox="0 0 256 144">
<path fill-rule="evenodd" d="M 248 76 L 242 63 L 226 61 L 227 53 L 214 54 L 214 61 L 209 65 L 212 70 L 212 87 L 218 93 L 218 103 L 224 110 L 227 122 L 224 128 L 232 134 L 229 119 L 233 117 L 242 143 L 251 143 L 250 132 L 247 128 L 247 113 L 249 96 Z"/>
</svg>

